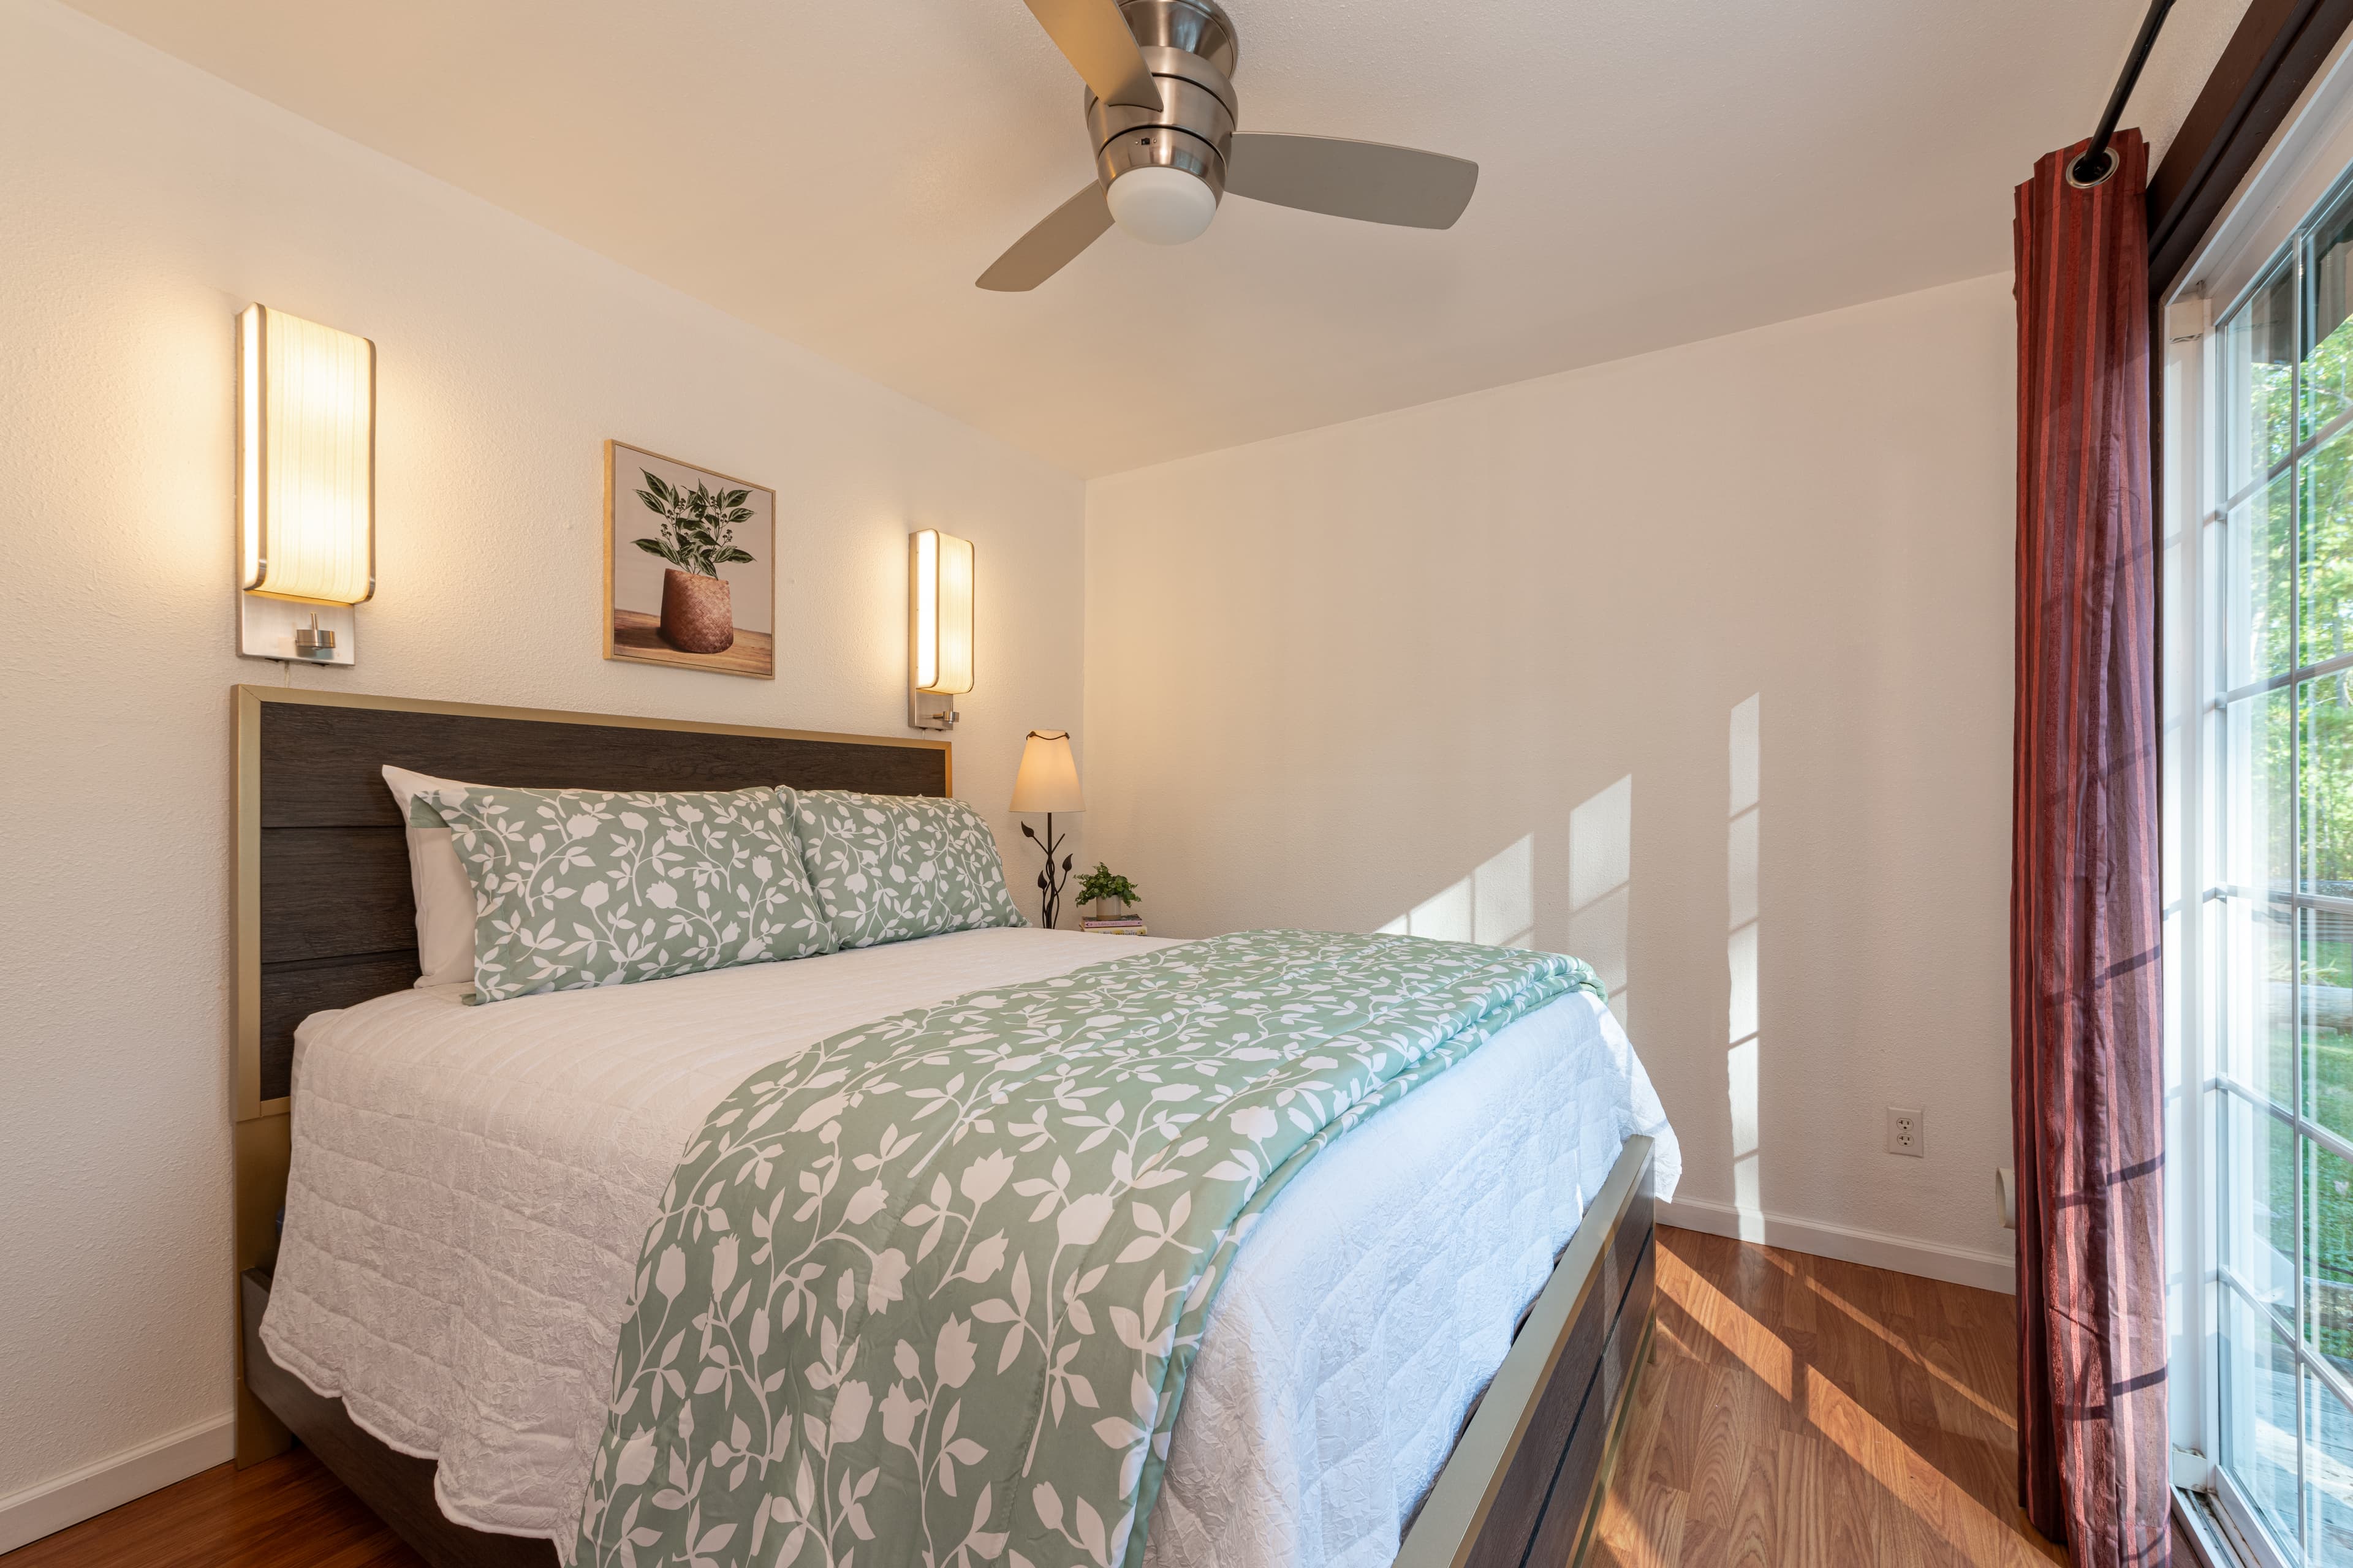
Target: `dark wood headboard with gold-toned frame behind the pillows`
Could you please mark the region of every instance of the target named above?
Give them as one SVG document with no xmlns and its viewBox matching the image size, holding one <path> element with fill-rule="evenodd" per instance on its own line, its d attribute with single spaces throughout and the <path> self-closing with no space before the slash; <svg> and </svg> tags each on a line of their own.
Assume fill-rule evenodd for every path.
<svg viewBox="0 0 2353 1568">
<path fill-rule="evenodd" d="M 384 764 L 584 790 L 948 795 L 946 741 L 238 686 L 238 1269 L 275 1255 L 294 1025 L 416 980 L 416 900 Z M 240 1418 L 254 1406 L 240 1399 Z M 266 1422 L 275 1427 L 275 1422 Z M 240 1458 L 247 1429 L 240 1420 Z"/>
</svg>

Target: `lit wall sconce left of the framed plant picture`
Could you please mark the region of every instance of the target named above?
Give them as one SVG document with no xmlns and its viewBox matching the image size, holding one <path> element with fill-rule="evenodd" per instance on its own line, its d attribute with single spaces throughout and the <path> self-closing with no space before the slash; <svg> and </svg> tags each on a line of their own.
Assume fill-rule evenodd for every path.
<svg viewBox="0 0 2353 1568">
<path fill-rule="evenodd" d="M 353 663 L 376 592 L 376 346 L 238 313 L 238 651 Z"/>
</svg>

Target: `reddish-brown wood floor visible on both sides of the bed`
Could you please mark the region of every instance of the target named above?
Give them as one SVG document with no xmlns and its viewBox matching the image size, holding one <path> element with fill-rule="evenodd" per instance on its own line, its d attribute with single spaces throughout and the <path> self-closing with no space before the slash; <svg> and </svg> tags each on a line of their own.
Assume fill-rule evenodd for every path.
<svg viewBox="0 0 2353 1568">
<path fill-rule="evenodd" d="M 1661 1227 L 1657 1361 L 1588 1563 L 2064 1563 L 2014 1502 L 2012 1333 L 2007 1295 Z M 299 1448 L 0 1556 L 99 1563 L 421 1568 Z"/>
</svg>

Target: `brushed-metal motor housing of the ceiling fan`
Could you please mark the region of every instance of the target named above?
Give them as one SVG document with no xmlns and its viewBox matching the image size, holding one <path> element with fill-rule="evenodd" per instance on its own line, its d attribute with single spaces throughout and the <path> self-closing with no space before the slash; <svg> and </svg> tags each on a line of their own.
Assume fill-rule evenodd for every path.
<svg viewBox="0 0 2353 1568">
<path fill-rule="evenodd" d="M 1233 19 L 1217 0 L 1120 0 L 1120 14 L 1160 85 L 1160 108 L 1104 103 L 1087 92 L 1096 179 L 1108 190 L 1129 169 L 1181 169 L 1221 200 L 1240 110 Z"/>
</svg>

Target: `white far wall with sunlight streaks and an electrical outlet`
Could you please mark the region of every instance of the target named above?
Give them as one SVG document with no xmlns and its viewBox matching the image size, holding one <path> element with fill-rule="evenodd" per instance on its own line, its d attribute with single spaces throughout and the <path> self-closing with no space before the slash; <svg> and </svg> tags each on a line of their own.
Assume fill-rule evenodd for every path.
<svg viewBox="0 0 2353 1568">
<path fill-rule="evenodd" d="M 1682 1218 L 2005 1284 L 2012 362 L 1984 277 L 1092 482 L 1089 858 L 1581 952 Z"/>
</svg>

